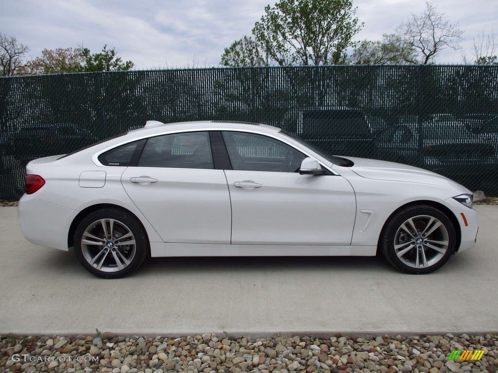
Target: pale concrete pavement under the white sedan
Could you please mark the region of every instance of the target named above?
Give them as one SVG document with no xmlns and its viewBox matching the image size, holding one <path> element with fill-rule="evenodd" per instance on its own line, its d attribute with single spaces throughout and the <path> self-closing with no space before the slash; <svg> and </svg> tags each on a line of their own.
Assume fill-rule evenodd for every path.
<svg viewBox="0 0 498 373">
<path fill-rule="evenodd" d="M 0 334 L 430 334 L 498 331 L 498 206 L 478 244 L 430 275 L 381 258 L 152 258 L 102 280 L 27 242 L 0 207 Z"/>
</svg>

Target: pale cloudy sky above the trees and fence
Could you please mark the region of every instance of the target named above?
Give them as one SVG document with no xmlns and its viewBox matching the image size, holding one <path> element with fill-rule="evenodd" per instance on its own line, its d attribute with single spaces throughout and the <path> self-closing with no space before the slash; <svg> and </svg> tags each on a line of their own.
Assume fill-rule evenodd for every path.
<svg viewBox="0 0 498 373">
<path fill-rule="evenodd" d="M 353 0 L 365 23 L 357 40 L 379 40 L 424 0 Z M 135 69 L 218 66 L 225 47 L 250 34 L 264 6 L 276 0 L 0 0 L 0 31 L 41 55 L 44 48 L 107 44 Z M 459 64 L 472 55 L 479 34 L 498 34 L 497 0 L 434 0 L 440 13 L 464 31 L 463 50 L 445 50 L 437 62 Z"/>
</svg>

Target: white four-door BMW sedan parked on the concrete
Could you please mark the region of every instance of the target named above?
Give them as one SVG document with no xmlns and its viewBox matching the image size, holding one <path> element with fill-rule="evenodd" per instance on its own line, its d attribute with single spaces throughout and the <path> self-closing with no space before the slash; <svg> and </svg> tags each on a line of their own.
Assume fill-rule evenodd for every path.
<svg viewBox="0 0 498 373">
<path fill-rule="evenodd" d="M 31 161 L 19 223 L 120 278 L 152 257 L 374 256 L 411 274 L 475 245 L 472 192 L 411 166 L 323 154 L 276 127 L 163 124 Z"/>
</svg>

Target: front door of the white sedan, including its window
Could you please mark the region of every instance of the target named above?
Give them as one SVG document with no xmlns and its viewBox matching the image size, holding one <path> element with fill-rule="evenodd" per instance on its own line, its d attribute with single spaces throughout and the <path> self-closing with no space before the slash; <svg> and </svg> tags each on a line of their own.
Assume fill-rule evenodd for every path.
<svg viewBox="0 0 498 373">
<path fill-rule="evenodd" d="M 351 244 L 356 198 L 346 179 L 299 175 L 306 156 L 277 139 L 230 131 L 224 138 L 233 244 Z"/>
</svg>

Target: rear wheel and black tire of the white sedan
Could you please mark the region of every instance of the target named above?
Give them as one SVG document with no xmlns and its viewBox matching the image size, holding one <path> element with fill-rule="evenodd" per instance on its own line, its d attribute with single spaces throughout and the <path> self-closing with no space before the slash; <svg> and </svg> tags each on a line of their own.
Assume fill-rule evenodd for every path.
<svg viewBox="0 0 498 373">
<path fill-rule="evenodd" d="M 150 245 L 136 217 L 117 208 L 104 208 L 90 213 L 78 225 L 74 249 L 92 275 L 119 279 L 140 267 Z"/>
</svg>

